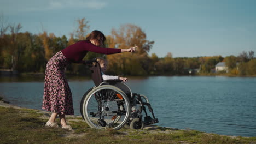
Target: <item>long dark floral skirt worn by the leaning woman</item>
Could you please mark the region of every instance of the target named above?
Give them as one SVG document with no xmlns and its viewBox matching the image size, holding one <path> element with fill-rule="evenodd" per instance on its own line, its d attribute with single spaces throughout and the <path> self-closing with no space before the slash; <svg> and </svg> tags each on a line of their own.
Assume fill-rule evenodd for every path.
<svg viewBox="0 0 256 144">
<path fill-rule="evenodd" d="M 68 64 L 63 53 L 57 52 L 47 63 L 42 109 L 59 115 L 74 115 L 72 93 L 65 76 Z"/>
</svg>

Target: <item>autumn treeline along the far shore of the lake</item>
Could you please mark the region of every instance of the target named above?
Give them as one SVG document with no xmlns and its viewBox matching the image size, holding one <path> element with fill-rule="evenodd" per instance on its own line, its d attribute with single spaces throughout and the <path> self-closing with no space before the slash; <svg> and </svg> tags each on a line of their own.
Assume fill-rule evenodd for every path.
<svg viewBox="0 0 256 144">
<path fill-rule="evenodd" d="M 19 73 L 42 72 L 46 63 L 56 53 L 65 47 L 83 40 L 89 33 L 88 21 L 78 19 L 78 28 L 68 39 L 66 35 L 56 37 L 53 33 L 44 31 L 39 34 L 19 32 L 21 25 L 4 25 L 0 22 L 0 69 L 13 69 Z M 254 52 L 243 51 L 239 56 L 210 57 L 177 57 L 166 53 L 159 58 L 155 53 L 148 55 L 154 41 L 147 40 L 146 33 L 136 25 L 121 25 L 112 29 L 106 37 L 106 47 L 122 49 L 138 46 L 135 53 L 119 53 L 101 55 L 89 52 L 84 59 L 104 57 L 108 60 L 108 74 L 116 75 L 188 75 L 212 74 L 218 62 L 225 61 L 231 75 L 256 75 L 256 59 Z M 88 69 L 83 64 L 71 64 L 67 73 L 86 75 Z M 226 74 L 226 73 L 223 73 Z"/>
</svg>

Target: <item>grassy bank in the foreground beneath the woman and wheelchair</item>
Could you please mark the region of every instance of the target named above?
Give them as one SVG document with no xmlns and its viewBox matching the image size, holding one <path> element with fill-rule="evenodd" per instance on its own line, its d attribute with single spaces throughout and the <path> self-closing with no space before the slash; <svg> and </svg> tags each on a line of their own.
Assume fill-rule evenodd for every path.
<svg viewBox="0 0 256 144">
<path fill-rule="evenodd" d="M 37 110 L 0 107 L 0 143 L 256 143 L 256 137 L 229 137 L 196 130 L 97 130 L 81 118 L 67 118 L 74 131 L 46 128 Z"/>
</svg>

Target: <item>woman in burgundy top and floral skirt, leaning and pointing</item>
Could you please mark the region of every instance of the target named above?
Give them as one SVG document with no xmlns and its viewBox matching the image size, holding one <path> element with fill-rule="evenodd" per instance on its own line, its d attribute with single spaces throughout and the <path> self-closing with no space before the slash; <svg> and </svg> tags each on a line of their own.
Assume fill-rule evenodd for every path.
<svg viewBox="0 0 256 144">
<path fill-rule="evenodd" d="M 65 115 L 74 115 L 72 93 L 65 77 L 65 68 L 69 63 L 82 63 L 88 51 L 106 55 L 120 52 L 134 52 L 135 48 L 115 49 L 103 48 L 106 38 L 100 31 L 92 31 L 86 40 L 78 41 L 57 52 L 47 63 L 44 80 L 44 97 L 42 109 L 53 112 L 48 127 L 58 127 L 55 122 L 57 115 L 63 129 L 72 130 L 67 125 Z"/>
</svg>

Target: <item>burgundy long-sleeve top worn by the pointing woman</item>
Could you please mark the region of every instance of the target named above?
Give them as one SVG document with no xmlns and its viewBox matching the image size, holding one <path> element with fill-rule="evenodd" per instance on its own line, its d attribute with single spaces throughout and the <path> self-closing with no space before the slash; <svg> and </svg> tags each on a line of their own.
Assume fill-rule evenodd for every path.
<svg viewBox="0 0 256 144">
<path fill-rule="evenodd" d="M 63 55 L 67 58 L 67 61 L 73 63 L 82 62 L 88 51 L 108 55 L 113 53 L 120 53 L 121 49 L 98 47 L 90 43 L 88 40 L 83 40 L 61 50 Z"/>
</svg>

